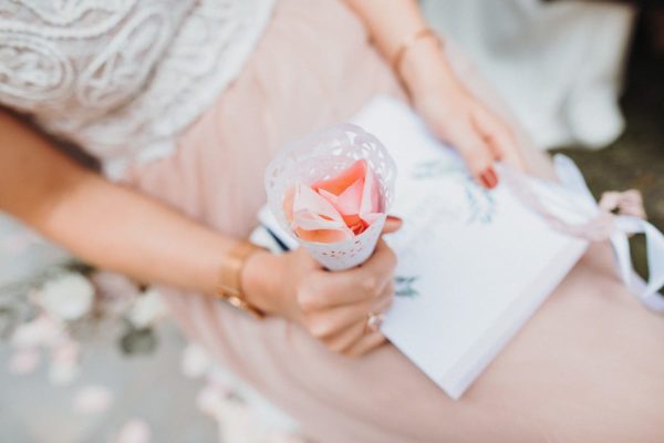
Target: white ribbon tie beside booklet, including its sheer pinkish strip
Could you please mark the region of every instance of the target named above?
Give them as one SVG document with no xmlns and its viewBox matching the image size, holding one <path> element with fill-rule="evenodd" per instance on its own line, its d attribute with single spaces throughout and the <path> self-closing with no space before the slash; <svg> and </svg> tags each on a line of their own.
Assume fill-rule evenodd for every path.
<svg viewBox="0 0 664 443">
<path fill-rule="evenodd" d="M 529 181 L 518 173 L 504 169 L 505 182 L 522 203 L 544 217 L 554 229 L 589 241 L 610 240 L 625 286 L 639 295 L 650 309 L 664 311 L 664 297 L 657 292 L 664 286 L 664 236 L 645 220 L 641 193 L 635 189 L 608 192 L 598 204 L 574 162 L 558 154 L 553 157 L 553 165 L 563 189 L 577 197 L 574 202 L 568 202 L 564 212 L 574 213 L 583 222 L 570 223 L 569 217 L 562 217 L 554 208 L 546 206 Z M 632 268 L 629 237 L 634 234 L 645 235 L 649 267 L 645 285 L 634 278 Z"/>
</svg>

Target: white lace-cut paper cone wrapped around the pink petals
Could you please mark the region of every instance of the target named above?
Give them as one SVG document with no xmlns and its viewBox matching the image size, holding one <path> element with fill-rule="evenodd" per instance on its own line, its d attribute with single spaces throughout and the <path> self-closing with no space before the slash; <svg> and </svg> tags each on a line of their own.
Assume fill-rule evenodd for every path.
<svg viewBox="0 0 664 443">
<path fill-rule="evenodd" d="M 295 182 L 313 183 L 339 175 L 357 159 L 365 159 L 375 174 L 383 216 L 364 233 L 333 244 L 304 241 L 294 235 L 283 213 L 287 189 Z M 374 251 L 394 199 L 396 165 L 381 142 L 359 126 L 343 124 L 314 133 L 287 146 L 268 165 L 268 205 L 279 225 L 330 270 L 350 269 Z"/>
</svg>

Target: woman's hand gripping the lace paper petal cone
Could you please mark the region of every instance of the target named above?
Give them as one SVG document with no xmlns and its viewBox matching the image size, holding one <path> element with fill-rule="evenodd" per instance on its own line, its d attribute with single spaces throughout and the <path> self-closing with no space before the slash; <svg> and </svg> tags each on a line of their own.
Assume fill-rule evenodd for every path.
<svg viewBox="0 0 664 443">
<path fill-rule="evenodd" d="M 384 233 L 400 227 L 401 220 L 390 217 Z M 395 267 L 396 256 L 381 238 L 366 262 L 344 271 L 325 270 L 304 248 L 259 253 L 247 260 L 242 282 L 258 308 L 301 324 L 330 350 L 357 357 L 385 341 L 367 319 L 392 305 Z"/>
</svg>

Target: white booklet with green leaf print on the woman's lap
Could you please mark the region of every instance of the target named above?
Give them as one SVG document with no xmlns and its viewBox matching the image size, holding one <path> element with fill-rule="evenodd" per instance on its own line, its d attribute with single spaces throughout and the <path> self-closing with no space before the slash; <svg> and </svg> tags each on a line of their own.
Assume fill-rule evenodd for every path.
<svg viewBox="0 0 664 443">
<path fill-rule="evenodd" d="M 587 243 L 563 236 L 505 185 L 486 190 L 405 104 L 378 96 L 353 119 L 394 157 L 386 236 L 398 256 L 395 302 L 383 333 L 447 394 L 458 399 L 579 260 Z M 540 184 L 541 186 L 541 184 Z M 269 210 L 252 238 L 297 241 Z"/>
</svg>

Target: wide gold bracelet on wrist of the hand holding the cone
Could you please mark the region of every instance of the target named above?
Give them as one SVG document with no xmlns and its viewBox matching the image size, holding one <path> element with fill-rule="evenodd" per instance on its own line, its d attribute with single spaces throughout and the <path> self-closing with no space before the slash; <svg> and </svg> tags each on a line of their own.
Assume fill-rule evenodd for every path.
<svg viewBox="0 0 664 443">
<path fill-rule="evenodd" d="M 242 291 L 242 269 L 247 259 L 255 253 L 264 250 L 249 241 L 239 241 L 224 257 L 219 270 L 219 289 L 217 296 L 231 306 L 251 313 L 256 318 L 263 318 L 264 312 L 247 301 Z"/>
</svg>

